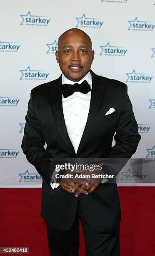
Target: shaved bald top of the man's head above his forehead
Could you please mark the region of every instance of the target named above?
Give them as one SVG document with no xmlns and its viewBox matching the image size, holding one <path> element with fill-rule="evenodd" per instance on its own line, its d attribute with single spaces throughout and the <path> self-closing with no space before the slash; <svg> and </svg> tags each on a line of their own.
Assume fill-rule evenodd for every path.
<svg viewBox="0 0 155 256">
<path fill-rule="evenodd" d="M 58 38 L 58 41 L 57 41 L 57 48 L 58 48 L 58 51 L 59 51 L 59 46 L 61 44 L 61 42 L 67 38 L 68 36 L 83 36 L 85 37 L 85 39 L 87 39 L 87 41 L 89 42 L 90 44 L 90 49 L 92 50 L 92 41 L 91 41 L 91 38 L 90 36 L 87 35 L 87 33 L 85 33 L 84 31 L 82 31 L 81 29 L 79 28 L 70 28 L 68 29 L 67 31 L 65 31 L 64 33 L 62 33 L 59 38 Z"/>
</svg>

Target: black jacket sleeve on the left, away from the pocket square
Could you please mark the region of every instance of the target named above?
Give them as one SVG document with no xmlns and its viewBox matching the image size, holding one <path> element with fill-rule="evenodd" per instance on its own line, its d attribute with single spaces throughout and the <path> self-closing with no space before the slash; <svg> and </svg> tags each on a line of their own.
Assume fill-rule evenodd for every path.
<svg viewBox="0 0 155 256">
<path fill-rule="evenodd" d="M 50 184 L 50 155 L 44 148 L 45 141 L 40 129 L 40 123 L 33 105 L 33 90 L 28 102 L 28 112 L 25 116 L 25 129 L 21 148 L 30 164 L 34 165 L 42 179 Z"/>
</svg>

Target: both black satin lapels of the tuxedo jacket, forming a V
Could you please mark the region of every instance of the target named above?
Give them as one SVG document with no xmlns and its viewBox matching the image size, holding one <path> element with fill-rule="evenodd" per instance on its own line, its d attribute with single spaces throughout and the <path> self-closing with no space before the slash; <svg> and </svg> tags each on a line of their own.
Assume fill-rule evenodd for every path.
<svg viewBox="0 0 155 256">
<path fill-rule="evenodd" d="M 68 136 L 67 128 L 65 125 L 65 119 L 63 115 L 61 90 L 62 75 L 58 79 L 52 81 L 52 84 L 50 83 L 49 85 L 52 113 L 57 124 L 57 128 L 63 140 L 65 141 L 68 149 L 70 150 L 70 154 L 73 158 L 77 157 L 82 148 L 85 146 L 86 140 L 97 118 L 107 88 L 106 79 L 104 81 L 103 77 L 101 79 L 100 76 L 97 76 L 91 70 L 90 72 L 92 74 L 92 92 L 90 100 L 90 109 L 88 113 L 87 123 L 85 125 L 85 129 L 83 131 L 82 138 L 77 149 L 77 154 L 75 154 L 74 147 L 72 146 L 72 143 Z"/>
</svg>

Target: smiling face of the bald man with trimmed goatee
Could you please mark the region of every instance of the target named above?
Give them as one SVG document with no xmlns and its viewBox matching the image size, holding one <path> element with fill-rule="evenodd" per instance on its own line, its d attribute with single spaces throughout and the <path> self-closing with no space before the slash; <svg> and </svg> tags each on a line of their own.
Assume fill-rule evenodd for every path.
<svg viewBox="0 0 155 256">
<path fill-rule="evenodd" d="M 80 31 L 70 31 L 60 38 L 56 59 L 67 79 L 78 82 L 90 71 L 94 59 L 89 38 Z"/>
</svg>

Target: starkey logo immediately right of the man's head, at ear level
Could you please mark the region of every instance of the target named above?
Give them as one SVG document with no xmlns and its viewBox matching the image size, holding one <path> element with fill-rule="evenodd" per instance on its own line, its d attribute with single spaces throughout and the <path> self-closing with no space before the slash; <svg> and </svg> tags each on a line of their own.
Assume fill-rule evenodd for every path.
<svg viewBox="0 0 155 256">
<path fill-rule="evenodd" d="M 125 56 L 128 51 L 128 49 L 124 49 L 122 46 L 110 46 L 109 42 L 106 45 L 100 45 L 100 48 L 102 49 L 100 56 Z"/>
</svg>

